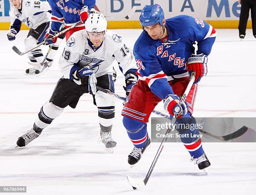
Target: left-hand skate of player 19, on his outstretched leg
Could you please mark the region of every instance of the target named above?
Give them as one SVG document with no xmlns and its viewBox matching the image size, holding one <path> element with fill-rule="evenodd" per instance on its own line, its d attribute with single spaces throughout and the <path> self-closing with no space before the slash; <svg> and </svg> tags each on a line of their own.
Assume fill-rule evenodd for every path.
<svg viewBox="0 0 256 195">
<path fill-rule="evenodd" d="M 34 129 L 36 129 L 36 132 Z M 28 130 L 24 135 L 18 138 L 16 147 L 26 146 L 28 143 L 36 139 L 41 134 L 42 130 L 43 129 L 36 127 L 34 124 L 32 129 Z"/>
</svg>

